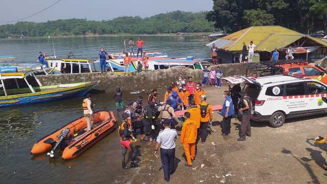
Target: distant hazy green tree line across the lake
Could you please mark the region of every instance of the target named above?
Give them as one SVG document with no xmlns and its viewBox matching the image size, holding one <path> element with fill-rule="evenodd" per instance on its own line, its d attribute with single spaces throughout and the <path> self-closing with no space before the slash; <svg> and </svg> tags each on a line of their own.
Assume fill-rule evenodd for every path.
<svg viewBox="0 0 327 184">
<path fill-rule="evenodd" d="M 151 17 L 123 16 L 112 20 L 59 19 L 47 22 L 21 21 L 0 26 L 0 37 L 13 36 L 61 36 L 85 34 L 157 34 L 212 32 L 214 22 L 208 21 L 208 12 L 173 11 Z"/>
</svg>

